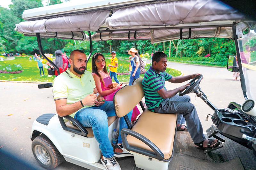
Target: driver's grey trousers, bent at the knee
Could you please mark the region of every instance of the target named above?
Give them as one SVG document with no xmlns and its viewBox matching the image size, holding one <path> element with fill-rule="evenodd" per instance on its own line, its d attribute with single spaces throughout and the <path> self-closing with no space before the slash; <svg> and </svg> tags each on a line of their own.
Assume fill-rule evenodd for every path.
<svg viewBox="0 0 256 170">
<path fill-rule="evenodd" d="M 202 124 L 196 112 L 196 107 L 190 103 L 188 95 L 179 96 L 176 94 L 172 98 L 164 100 L 159 107 L 155 108 L 155 113 L 174 113 L 183 115 L 186 120 L 188 132 L 194 143 L 205 140 Z"/>
</svg>

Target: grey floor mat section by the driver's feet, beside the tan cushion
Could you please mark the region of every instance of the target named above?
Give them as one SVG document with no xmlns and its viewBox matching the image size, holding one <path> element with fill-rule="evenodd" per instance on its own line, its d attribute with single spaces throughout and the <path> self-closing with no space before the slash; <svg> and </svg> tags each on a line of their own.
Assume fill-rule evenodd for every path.
<svg viewBox="0 0 256 170">
<path fill-rule="evenodd" d="M 197 149 L 186 131 L 177 131 L 174 144 L 174 152 L 189 155 L 195 158 L 207 160 L 203 149 Z"/>
</svg>

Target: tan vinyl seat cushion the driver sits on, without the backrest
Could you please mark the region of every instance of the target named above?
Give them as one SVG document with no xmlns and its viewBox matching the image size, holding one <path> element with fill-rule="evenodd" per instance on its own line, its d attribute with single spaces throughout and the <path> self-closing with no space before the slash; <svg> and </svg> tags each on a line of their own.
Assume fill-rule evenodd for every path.
<svg viewBox="0 0 256 170">
<path fill-rule="evenodd" d="M 139 117 L 132 130 L 148 138 L 164 154 L 164 159 L 170 159 L 174 146 L 177 114 L 159 114 L 146 109 Z M 127 135 L 131 146 L 153 150 L 139 139 Z"/>
</svg>

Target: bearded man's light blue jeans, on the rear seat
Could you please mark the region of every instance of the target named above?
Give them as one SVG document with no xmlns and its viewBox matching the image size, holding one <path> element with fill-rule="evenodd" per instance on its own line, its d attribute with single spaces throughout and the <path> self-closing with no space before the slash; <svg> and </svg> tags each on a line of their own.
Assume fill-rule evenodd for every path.
<svg viewBox="0 0 256 170">
<path fill-rule="evenodd" d="M 76 112 L 74 118 L 84 127 L 92 127 L 93 135 L 100 145 L 102 155 L 106 158 L 114 156 L 113 147 L 108 139 L 108 117 L 116 116 L 113 101 L 106 101 L 99 107 L 87 107 Z M 131 120 L 132 111 L 128 113 Z M 122 143 L 121 129 L 127 128 L 124 118 L 119 120 L 118 143 Z"/>
</svg>

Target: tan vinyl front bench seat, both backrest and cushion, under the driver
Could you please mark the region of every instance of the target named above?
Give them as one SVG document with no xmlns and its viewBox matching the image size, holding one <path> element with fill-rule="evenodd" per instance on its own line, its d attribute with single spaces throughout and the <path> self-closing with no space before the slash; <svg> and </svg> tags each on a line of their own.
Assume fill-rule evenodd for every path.
<svg viewBox="0 0 256 170">
<path fill-rule="evenodd" d="M 127 115 L 143 97 L 142 78 L 136 79 L 132 86 L 120 89 L 114 97 L 117 117 Z M 146 109 L 131 130 L 148 138 L 164 154 L 164 160 L 170 160 L 174 147 L 176 123 L 177 114 L 159 114 Z M 153 151 L 147 144 L 131 135 L 127 135 L 126 138 L 131 146 Z"/>
</svg>

